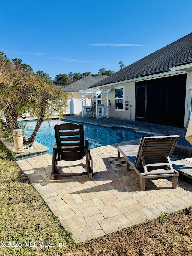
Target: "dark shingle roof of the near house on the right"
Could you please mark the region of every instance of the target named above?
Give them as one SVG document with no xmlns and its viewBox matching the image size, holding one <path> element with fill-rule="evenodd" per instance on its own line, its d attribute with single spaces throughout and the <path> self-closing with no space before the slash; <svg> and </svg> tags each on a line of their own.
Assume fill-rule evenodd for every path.
<svg viewBox="0 0 192 256">
<path fill-rule="evenodd" d="M 188 63 L 192 63 L 192 33 L 134 62 L 89 88 L 167 72 L 172 67 Z"/>
</svg>

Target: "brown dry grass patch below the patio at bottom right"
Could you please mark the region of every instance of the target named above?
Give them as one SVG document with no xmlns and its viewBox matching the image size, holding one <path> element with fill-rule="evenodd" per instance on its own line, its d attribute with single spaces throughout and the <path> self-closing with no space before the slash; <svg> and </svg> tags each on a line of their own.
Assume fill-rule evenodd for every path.
<svg viewBox="0 0 192 256">
<path fill-rule="evenodd" d="M 68 256 L 192 255 L 192 208 L 73 245 Z"/>
</svg>

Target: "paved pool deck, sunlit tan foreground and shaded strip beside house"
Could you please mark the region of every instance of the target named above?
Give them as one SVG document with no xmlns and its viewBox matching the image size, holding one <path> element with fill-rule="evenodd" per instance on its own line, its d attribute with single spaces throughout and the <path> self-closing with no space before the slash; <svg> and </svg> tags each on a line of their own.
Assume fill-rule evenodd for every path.
<svg viewBox="0 0 192 256">
<path fill-rule="evenodd" d="M 126 126 L 137 131 L 156 135 L 180 134 L 183 128 L 154 125 L 125 119 L 84 118 L 82 115 L 65 117 L 76 122 L 89 122 L 104 126 Z M 86 134 L 85 134 L 86 135 Z M 120 144 L 138 144 L 140 139 L 91 149 L 94 177 L 87 176 L 49 180 L 52 155 L 40 155 L 19 160 L 17 163 L 30 182 L 39 191 L 61 224 L 73 234 L 76 242 L 84 242 L 119 229 L 157 218 L 161 212 L 178 212 L 192 205 L 192 185 L 179 179 L 177 189 L 171 179 L 146 180 L 145 191 L 140 190 L 140 180 L 131 170 L 126 171 L 123 157 L 117 157 Z M 176 149 L 172 161 L 178 170 L 192 172 L 192 158 L 188 152 Z M 59 171 L 79 172 L 85 168 L 81 161 L 61 161 Z M 190 176 L 190 175 L 189 175 Z"/>
</svg>

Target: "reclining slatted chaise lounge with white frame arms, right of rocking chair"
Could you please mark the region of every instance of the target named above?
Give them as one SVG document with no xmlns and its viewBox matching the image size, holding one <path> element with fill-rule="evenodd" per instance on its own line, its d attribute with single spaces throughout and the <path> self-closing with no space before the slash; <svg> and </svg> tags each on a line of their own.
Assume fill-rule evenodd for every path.
<svg viewBox="0 0 192 256">
<path fill-rule="evenodd" d="M 177 187 L 178 171 L 173 169 L 170 157 L 177 144 L 179 135 L 142 137 L 140 145 L 117 146 L 131 167 L 140 176 L 141 191 L 145 190 L 146 178 L 172 177 L 173 188 Z"/>
</svg>

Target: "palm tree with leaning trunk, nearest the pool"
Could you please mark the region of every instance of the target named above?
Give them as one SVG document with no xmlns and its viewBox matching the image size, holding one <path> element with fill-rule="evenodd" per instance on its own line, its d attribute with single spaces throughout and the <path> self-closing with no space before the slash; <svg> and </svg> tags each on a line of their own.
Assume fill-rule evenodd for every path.
<svg viewBox="0 0 192 256">
<path fill-rule="evenodd" d="M 34 142 L 44 118 L 58 114 L 61 119 L 66 112 L 68 99 L 65 92 L 55 88 L 52 84 L 45 83 L 38 74 L 32 74 L 32 77 L 33 86 L 31 95 L 28 95 L 28 100 L 32 104 L 29 105 L 28 111 L 31 116 L 38 116 L 38 120 L 31 137 L 27 140 L 28 144 Z"/>
</svg>

